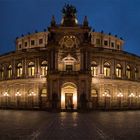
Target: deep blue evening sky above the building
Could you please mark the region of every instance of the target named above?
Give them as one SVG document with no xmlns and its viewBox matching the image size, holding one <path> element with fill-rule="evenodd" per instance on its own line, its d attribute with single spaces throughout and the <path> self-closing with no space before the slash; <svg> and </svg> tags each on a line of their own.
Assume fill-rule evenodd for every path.
<svg viewBox="0 0 140 140">
<path fill-rule="evenodd" d="M 140 56 L 140 0 L 0 0 L 0 54 L 15 50 L 17 36 L 43 31 L 52 15 L 60 23 L 65 3 L 77 8 L 79 23 L 86 15 L 95 31 L 122 37 L 124 50 Z"/>
</svg>

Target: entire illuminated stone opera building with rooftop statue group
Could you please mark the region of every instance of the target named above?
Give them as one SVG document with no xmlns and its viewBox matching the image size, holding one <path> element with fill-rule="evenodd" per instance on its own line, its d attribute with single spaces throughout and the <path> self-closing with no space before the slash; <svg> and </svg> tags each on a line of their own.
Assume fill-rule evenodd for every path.
<svg viewBox="0 0 140 140">
<path fill-rule="evenodd" d="M 140 108 L 140 57 L 123 51 L 117 36 L 80 25 L 63 8 L 44 32 L 16 39 L 0 56 L 0 107 L 37 109 Z"/>
</svg>

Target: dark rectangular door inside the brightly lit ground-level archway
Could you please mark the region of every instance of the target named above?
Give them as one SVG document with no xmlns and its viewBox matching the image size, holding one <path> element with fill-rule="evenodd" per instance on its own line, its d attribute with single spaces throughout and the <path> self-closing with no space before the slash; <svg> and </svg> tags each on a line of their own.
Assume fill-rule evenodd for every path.
<svg viewBox="0 0 140 140">
<path fill-rule="evenodd" d="M 73 109 L 73 93 L 65 93 L 66 109 Z"/>
</svg>

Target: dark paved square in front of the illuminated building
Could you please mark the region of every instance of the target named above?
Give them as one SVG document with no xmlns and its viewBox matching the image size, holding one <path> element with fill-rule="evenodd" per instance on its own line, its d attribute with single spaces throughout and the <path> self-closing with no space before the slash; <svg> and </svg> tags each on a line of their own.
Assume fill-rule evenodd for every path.
<svg viewBox="0 0 140 140">
<path fill-rule="evenodd" d="M 139 140 L 140 111 L 0 110 L 0 140 Z"/>
</svg>

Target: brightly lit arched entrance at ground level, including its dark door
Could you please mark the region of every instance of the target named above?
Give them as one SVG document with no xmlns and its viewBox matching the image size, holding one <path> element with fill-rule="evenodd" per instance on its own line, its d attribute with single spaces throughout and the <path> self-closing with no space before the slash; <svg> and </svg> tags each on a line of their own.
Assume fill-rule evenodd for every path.
<svg viewBox="0 0 140 140">
<path fill-rule="evenodd" d="M 77 109 L 77 86 L 67 82 L 61 87 L 61 109 Z"/>
</svg>

